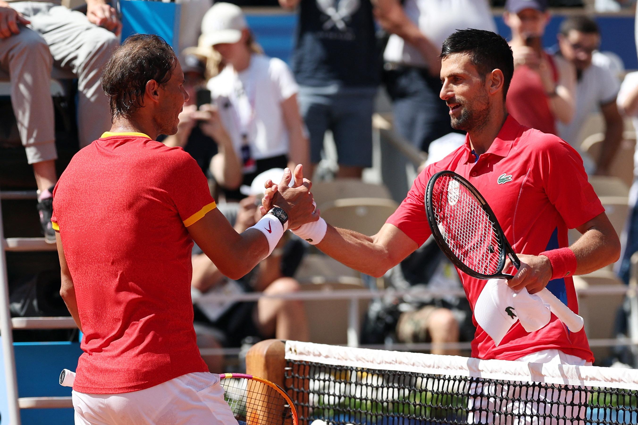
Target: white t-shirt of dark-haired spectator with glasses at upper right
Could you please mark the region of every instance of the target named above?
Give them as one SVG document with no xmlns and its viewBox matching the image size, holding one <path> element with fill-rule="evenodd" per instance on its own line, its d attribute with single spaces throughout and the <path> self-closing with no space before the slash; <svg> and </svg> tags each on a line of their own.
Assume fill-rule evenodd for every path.
<svg viewBox="0 0 638 425">
<path fill-rule="evenodd" d="M 619 89 L 618 78 L 607 68 L 591 64 L 582 71 L 581 79 L 576 85 L 576 110 L 574 119 L 569 124 L 557 122 L 558 136 L 567 141 L 582 157 L 581 140 L 579 139 L 582 126 L 591 113 L 596 112 L 600 105 L 616 99 Z"/>
</svg>

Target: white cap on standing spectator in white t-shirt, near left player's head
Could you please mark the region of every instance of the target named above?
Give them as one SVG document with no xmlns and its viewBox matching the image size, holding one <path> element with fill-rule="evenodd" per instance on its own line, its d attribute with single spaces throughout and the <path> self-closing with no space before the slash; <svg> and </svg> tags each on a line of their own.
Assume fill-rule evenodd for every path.
<svg viewBox="0 0 638 425">
<path fill-rule="evenodd" d="M 215 3 L 202 18 L 203 45 L 214 46 L 221 43 L 237 43 L 242 29 L 248 28 L 246 18 L 239 6 L 230 3 Z"/>
</svg>

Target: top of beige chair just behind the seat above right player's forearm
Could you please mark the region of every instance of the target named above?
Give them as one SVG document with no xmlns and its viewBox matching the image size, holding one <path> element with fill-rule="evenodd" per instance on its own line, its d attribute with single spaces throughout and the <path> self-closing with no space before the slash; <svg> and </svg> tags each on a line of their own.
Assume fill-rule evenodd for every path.
<svg viewBox="0 0 638 425">
<path fill-rule="evenodd" d="M 311 189 L 317 205 L 342 198 L 383 198 L 391 199 L 385 185 L 364 183 L 358 178 L 338 178 L 332 182 L 313 183 Z"/>
</svg>

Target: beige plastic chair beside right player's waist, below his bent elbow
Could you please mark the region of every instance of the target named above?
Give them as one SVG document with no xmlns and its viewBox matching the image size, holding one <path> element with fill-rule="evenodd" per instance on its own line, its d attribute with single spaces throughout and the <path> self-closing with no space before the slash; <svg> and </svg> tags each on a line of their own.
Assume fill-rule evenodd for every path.
<svg viewBox="0 0 638 425">
<path fill-rule="evenodd" d="M 611 270 L 597 270 L 588 275 L 574 276 L 574 287 L 577 290 L 599 285 L 608 286 L 610 289 L 627 287 Z M 588 338 L 614 338 L 616 310 L 622 305 L 624 298 L 624 294 L 578 296 L 579 314 L 584 319 Z M 609 355 L 607 347 L 592 347 L 591 350 L 598 359 Z"/>
</svg>

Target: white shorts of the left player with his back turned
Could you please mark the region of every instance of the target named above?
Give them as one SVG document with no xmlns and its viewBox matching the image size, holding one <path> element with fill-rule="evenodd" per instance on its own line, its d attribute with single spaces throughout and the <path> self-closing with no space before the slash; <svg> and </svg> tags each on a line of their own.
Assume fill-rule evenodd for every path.
<svg viewBox="0 0 638 425">
<path fill-rule="evenodd" d="M 187 373 L 131 393 L 72 395 L 76 425 L 237 425 L 214 373 Z"/>
</svg>

